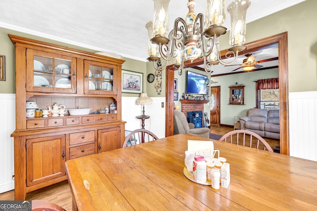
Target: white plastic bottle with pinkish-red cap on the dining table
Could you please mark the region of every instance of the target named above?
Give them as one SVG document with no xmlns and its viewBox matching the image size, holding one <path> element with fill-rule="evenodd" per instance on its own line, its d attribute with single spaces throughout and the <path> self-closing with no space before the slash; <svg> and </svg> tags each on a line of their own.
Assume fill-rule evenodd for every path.
<svg viewBox="0 0 317 211">
<path fill-rule="evenodd" d="M 193 161 L 193 177 L 196 182 L 205 183 L 207 180 L 207 166 L 204 156 L 195 155 Z"/>
</svg>

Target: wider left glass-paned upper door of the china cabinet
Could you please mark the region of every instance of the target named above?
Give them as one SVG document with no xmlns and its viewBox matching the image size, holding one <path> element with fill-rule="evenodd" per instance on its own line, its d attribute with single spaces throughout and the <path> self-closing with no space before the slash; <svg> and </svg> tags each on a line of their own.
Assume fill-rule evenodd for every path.
<svg viewBox="0 0 317 211">
<path fill-rule="evenodd" d="M 27 49 L 26 60 L 27 91 L 76 93 L 76 58 Z"/>
</svg>

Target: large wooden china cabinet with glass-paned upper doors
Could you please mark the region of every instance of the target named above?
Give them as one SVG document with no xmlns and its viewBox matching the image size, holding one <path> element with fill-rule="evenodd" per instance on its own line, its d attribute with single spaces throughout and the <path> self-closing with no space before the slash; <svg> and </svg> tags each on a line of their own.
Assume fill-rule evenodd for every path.
<svg viewBox="0 0 317 211">
<path fill-rule="evenodd" d="M 121 66 L 124 60 L 8 35 L 15 45 L 15 200 L 67 179 L 69 159 L 122 147 Z M 26 116 L 26 102 L 48 109 L 91 108 L 87 115 Z M 97 110 L 116 104 L 108 114 Z"/>
</svg>

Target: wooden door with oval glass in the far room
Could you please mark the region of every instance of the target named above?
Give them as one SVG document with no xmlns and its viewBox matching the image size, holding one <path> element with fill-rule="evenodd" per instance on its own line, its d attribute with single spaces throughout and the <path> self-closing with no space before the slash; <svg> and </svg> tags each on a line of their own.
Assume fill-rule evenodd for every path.
<svg viewBox="0 0 317 211">
<path fill-rule="evenodd" d="M 211 86 L 210 95 L 210 124 L 220 126 L 220 86 Z"/>
</svg>

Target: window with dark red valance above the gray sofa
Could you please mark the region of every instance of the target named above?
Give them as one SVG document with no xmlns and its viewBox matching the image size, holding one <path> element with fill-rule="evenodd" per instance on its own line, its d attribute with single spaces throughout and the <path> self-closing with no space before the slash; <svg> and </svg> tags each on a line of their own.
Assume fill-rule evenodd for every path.
<svg viewBox="0 0 317 211">
<path fill-rule="evenodd" d="M 278 78 L 261 79 L 256 81 L 257 108 L 279 109 L 279 86 Z"/>
</svg>

